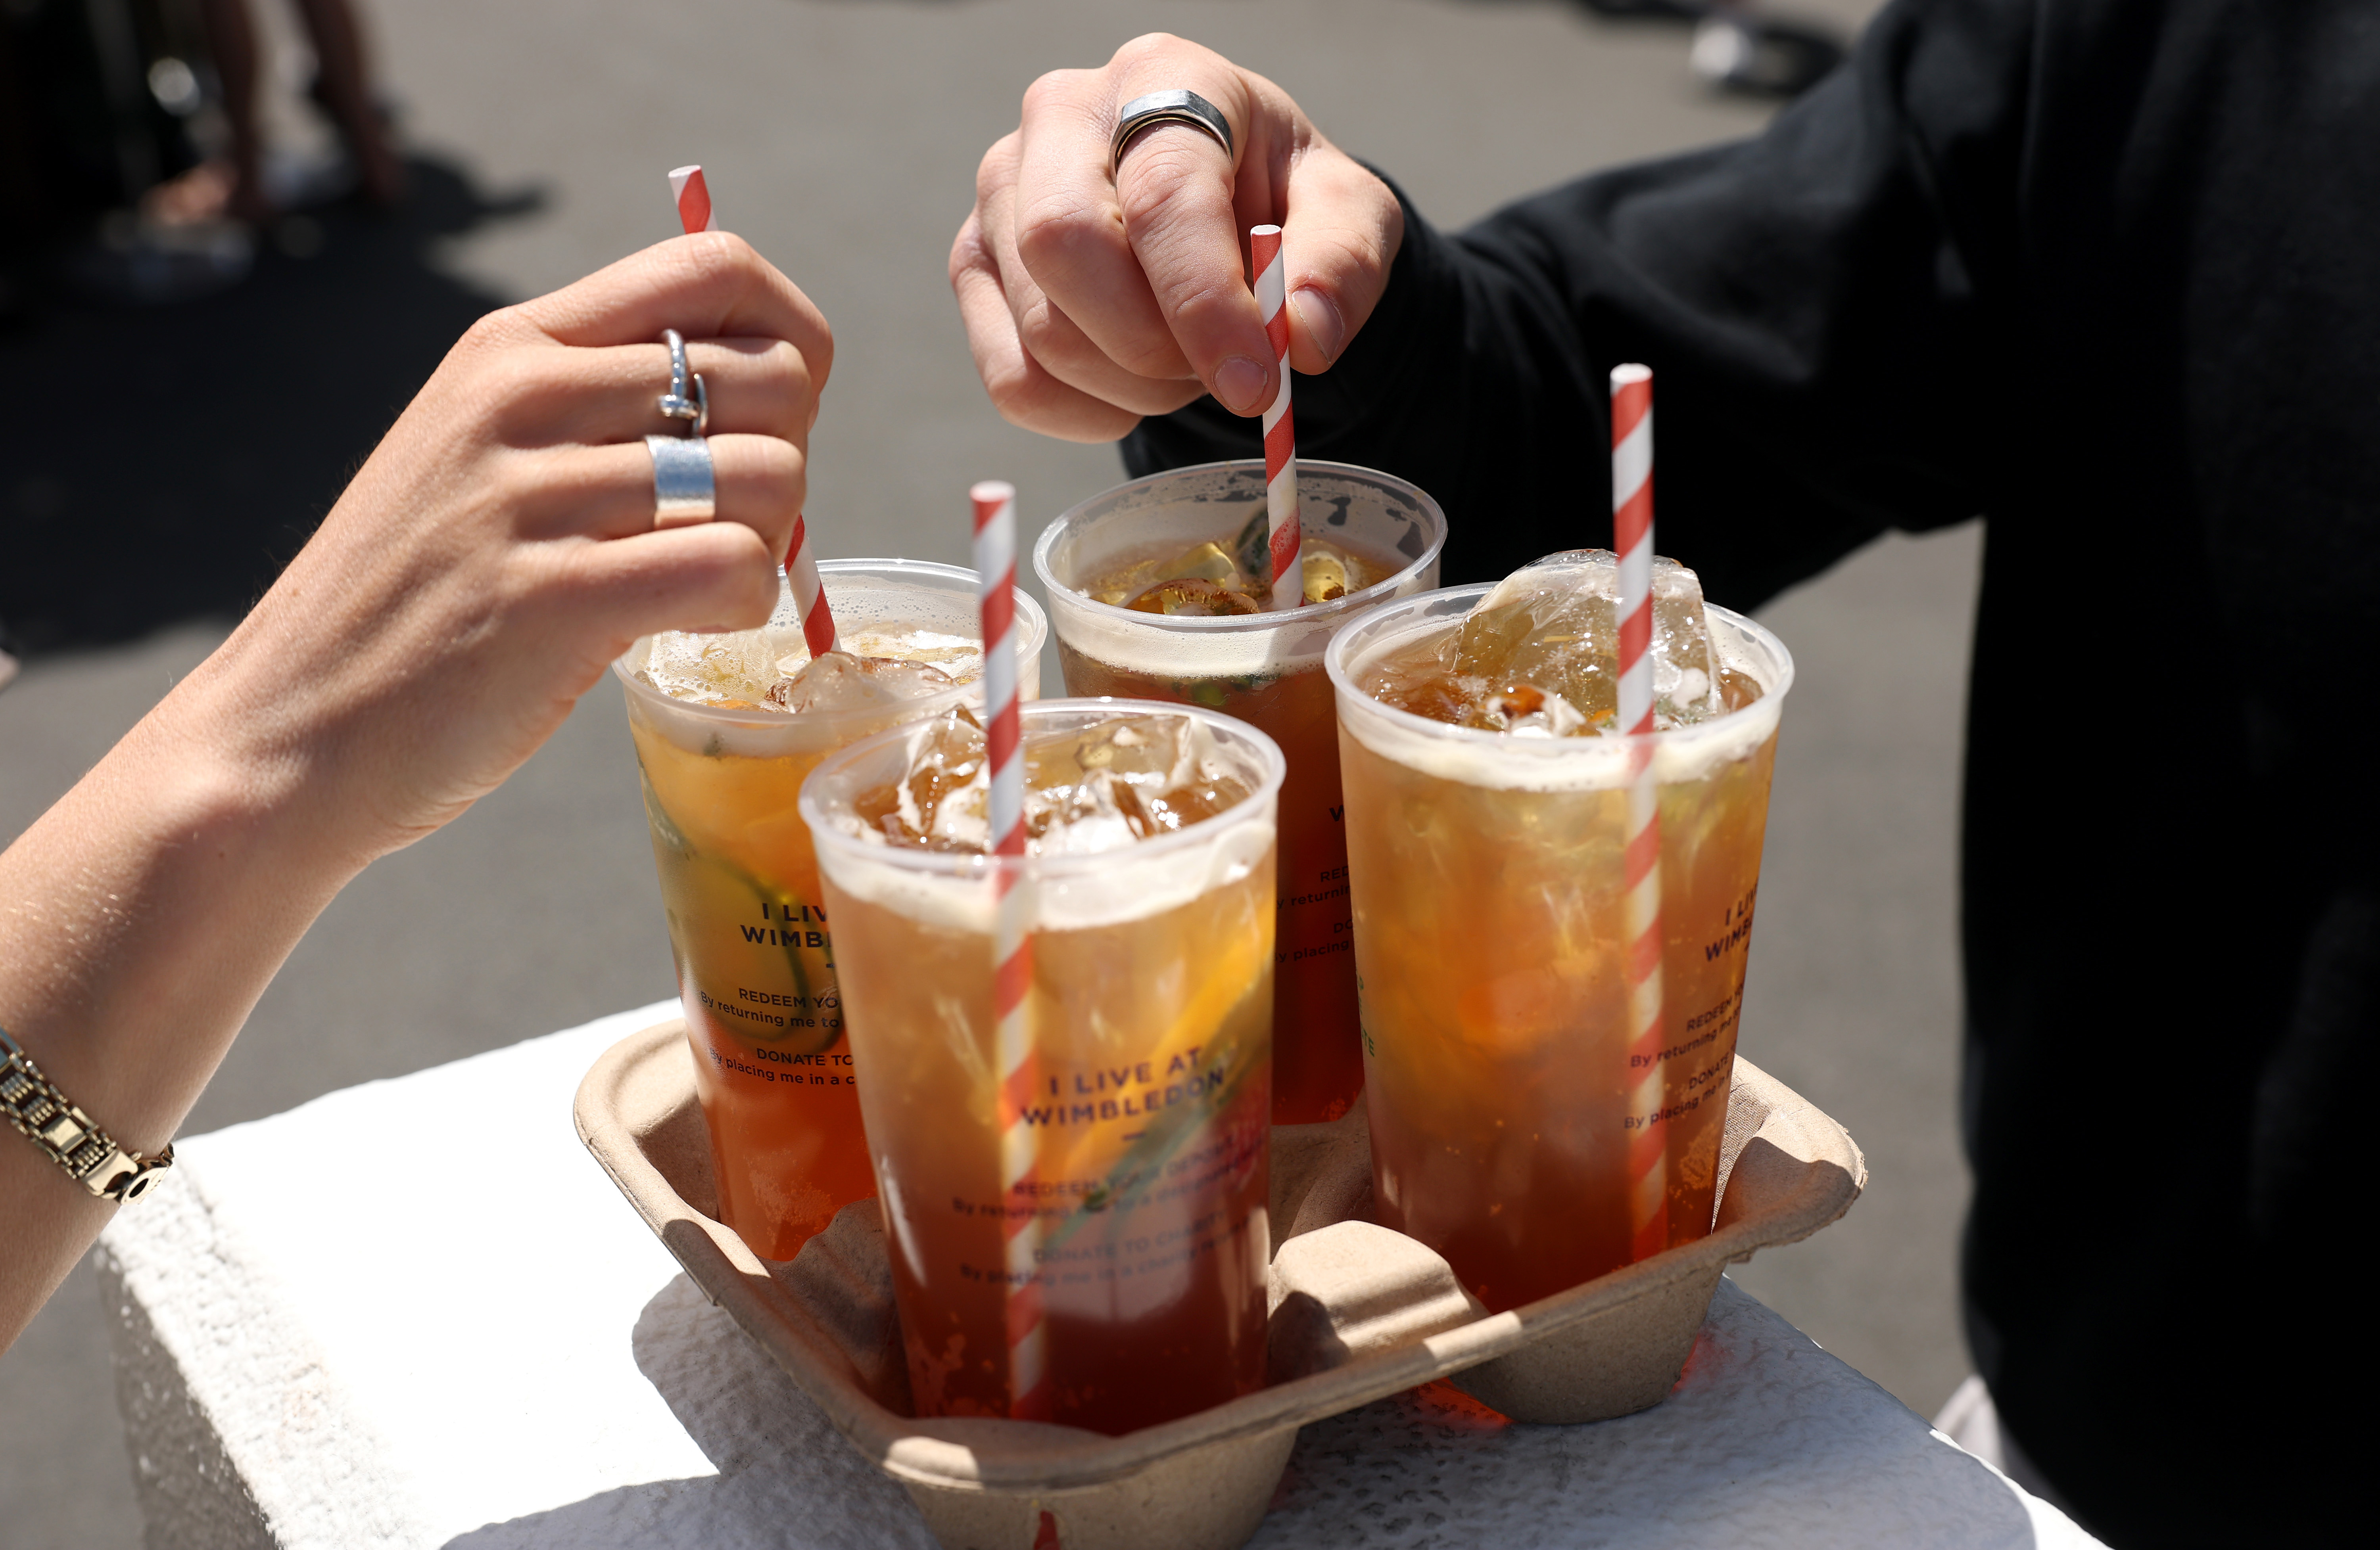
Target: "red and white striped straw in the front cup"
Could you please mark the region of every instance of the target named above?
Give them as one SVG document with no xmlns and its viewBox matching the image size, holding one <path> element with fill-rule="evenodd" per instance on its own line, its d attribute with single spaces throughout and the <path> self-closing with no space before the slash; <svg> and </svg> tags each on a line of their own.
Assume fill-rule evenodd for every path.
<svg viewBox="0 0 2380 1550">
<path fill-rule="evenodd" d="M 1047 1419 L 1042 1360 L 1040 1217 L 1033 1179 L 1033 887 L 1026 856 L 1023 718 L 1016 711 L 1016 485 L 985 480 L 976 502 L 976 587 L 983 604 L 983 756 L 992 770 L 992 1060 L 1000 1072 L 1000 1203 L 1007 1234 L 1009 1417 Z"/>
</svg>

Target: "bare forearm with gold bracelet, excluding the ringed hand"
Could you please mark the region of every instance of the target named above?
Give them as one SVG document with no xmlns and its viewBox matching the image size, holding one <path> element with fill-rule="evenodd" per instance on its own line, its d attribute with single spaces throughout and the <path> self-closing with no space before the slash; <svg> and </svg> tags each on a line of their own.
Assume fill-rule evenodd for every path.
<svg viewBox="0 0 2380 1550">
<path fill-rule="evenodd" d="M 298 811 L 202 668 L 7 851 L 0 1027 L 119 1146 L 155 1153 L 198 1101 L 274 970 L 359 856 Z M 31 1141 L 0 1134 L 0 1348 L 107 1222 Z"/>
</svg>

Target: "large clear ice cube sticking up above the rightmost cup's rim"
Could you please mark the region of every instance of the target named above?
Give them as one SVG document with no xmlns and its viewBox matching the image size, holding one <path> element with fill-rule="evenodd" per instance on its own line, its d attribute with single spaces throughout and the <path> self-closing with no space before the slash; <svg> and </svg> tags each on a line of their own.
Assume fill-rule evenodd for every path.
<svg viewBox="0 0 2380 1550">
<path fill-rule="evenodd" d="M 1678 561 L 1654 559 L 1652 601 L 1654 723 L 1718 716 L 1726 706 L 1714 694 L 1702 580 Z M 1464 620 L 1454 666 L 1507 697 L 1533 687 L 1564 701 L 1561 708 L 1511 701 L 1504 718 L 1514 732 L 1561 737 L 1554 732 L 1568 720 L 1561 711 L 1580 718 L 1571 725 L 1618 732 L 1618 559 L 1609 549 L 1571 549 L 1521 566 Z"/>
</svg>

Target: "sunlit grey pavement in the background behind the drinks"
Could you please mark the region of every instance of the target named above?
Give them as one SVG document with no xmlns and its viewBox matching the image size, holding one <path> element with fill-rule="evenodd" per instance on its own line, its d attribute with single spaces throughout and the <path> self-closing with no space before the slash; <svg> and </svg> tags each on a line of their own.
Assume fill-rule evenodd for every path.
<svg viewBox="0 0 2380 1550">
<path fill-rule="evenodd" d="M 1859 21 L 1871 2 L 1799 10 Z M 259 12 L 286 31 L 274 0 Z M 38 649 L 0 694 L 0 839 L 205 656 L 476 311 L 669 235 L 662 171 L 678 162 L 709 166 L 721 221 L 835 323 L 809 506 L 821 552 L 959 561 L 969 480 L 1014 480 L 1038 528 L 1119 478 L 1109 447 L 1000 423 L 942 278 L 976 157 L 1040 69 L 1095 64 L 1150 29 L 1200 38 L 1288 86 L 1442 223 L 1766 119 L 1695 86 L 1680 29 L 1557 0 L 407 0 L 376 7 L 376 29 L 424 183 L 412 214 L 333 212 L 321 257 L 269 254 L 233 297 L 62 314 L 0 342 L 0 409 L 83 340 L 90 371 L 129 383 L 105 399 L 124 416 L 112 433 L 152 452 L 114 466 L 0 416 L 17 426 L 0 597 L 12 554 L 62 566 Z M 262 435 L 262 399 L 219 376 L 248 342 L 305 385 L 314 418 L 283 445 Z M 107 563 L 74 561 L 69 528 L 136 537 Z M 1887 540 L 1766 611 L 1799 685 L 1742 1032 L 1752 1060 L 1852 1129 L 1873 1186 L 1842 1224 L 1737 1279 L 1928 1414 L 1966 1374 L 1954 820 L 1975 556 L 1973 528 Z M 26 604 L 10 609 L 31 635 Z M 621 706 L 600 687 L 505 789 L 331 906 L 186 1129 L 669 989 Z M 369 1210 L 371 1189 L 402 1186 L 405 1139 L 355 1148 Z M 12 1550 L 140 1540 L 88 1277 L 0 1355 L 0 1521 Z"/>
</svg>

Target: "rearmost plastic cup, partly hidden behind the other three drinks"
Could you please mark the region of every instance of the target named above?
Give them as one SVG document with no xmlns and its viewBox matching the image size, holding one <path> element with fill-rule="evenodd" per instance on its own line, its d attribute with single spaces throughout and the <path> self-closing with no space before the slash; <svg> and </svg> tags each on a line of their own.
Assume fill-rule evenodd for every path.
<svg viewBox="0 0 2380 1550">
<path fill-rule="evenodd" d="M 1290 761 L 1280 787 L 1280 932 L 1273 946 L 1273 1122 L 1335 1120 L 1364 1084 L 1340 823 L 1338 730 L 1323 649 L 1357 613 L 1438 585 L 1447 518 L 1390 473 L 1299 459 L 1307 544 L 1402 563 L 1388 580 L 1285 613 L 1135 613 L 1081 587 L 1150 552 L 1226 540 L 1264 509 L 1264 461 L 1200 464 L 1119 485 L 1033 544 L 1069 694 L 1169 699 L 1238 716 Z"/>
</svg>

